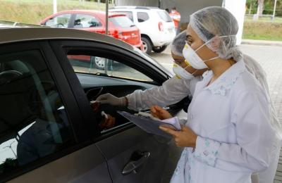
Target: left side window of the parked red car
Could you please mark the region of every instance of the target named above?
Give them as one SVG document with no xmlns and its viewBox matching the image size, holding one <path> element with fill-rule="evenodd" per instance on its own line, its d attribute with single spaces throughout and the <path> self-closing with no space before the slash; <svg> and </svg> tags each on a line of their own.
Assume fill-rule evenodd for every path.
<svg viewBox="0 0 282 183">
<path fill-rule="evenodd" d="M 71 19 L 71 14 L 58 15 L 54 18 L 47 20 L 45 25 L 49 27 L 68 28 L 68 23 Z"/>
</svg>

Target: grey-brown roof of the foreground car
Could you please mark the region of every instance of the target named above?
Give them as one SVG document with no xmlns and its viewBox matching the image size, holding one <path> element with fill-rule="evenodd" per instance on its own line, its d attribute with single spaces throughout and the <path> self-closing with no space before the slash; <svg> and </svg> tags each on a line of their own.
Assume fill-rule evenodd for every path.
<svg viewBox="0 0 282 183">
<path fill-rule="evenodd" d="M 133 46 L 130 46 L 119 39 L 83 30 L 51 27 L 15 27 L 2 28 L 0 29 L 0 34 L 0 44 L 44 39 L 80 39 L 114 44 L 130 51 L 134 50 Z"/>
</svg>

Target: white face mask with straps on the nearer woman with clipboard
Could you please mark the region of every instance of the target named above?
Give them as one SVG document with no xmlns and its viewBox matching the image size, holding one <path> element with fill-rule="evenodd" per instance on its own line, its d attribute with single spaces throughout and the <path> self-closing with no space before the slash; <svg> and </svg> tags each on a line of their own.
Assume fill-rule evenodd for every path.
<svg viewBox="0 0 282 183">
<path fill-rule="evenodd" d="M 231 35 L 231 36 L 235 36 L 235 35 Z M 231 37 L 231 36 L 221 36 L 221 37 Z M 213 39 L 213 38 L 212 38 Z M 205 62 L 207 61 L 212 61 L 216 58 L 219 58 L 219 56 L 216 56 L 214 58 L 209 58 L 206 61 L 203 61 L 202 58 L 200 58 L 200 56 L 197 55 L 197 51 L 199 49 L 202 49 L 202 47 L 206 44 L 208 44 L 210 41 L 212 41 L 212 39 L 209 39 L 208 42 L 205 42 L 204 44 L 202 44 L 202 46 L 200 46 L 198 49 L 196 49 L 194 51 L 194 49 L 191 48 L 191 46 L 189 46 L 189 44 L 185 44 L 184 49 L 183 49 L 183 57 L 189 61 L 189 63 L 191 64 L 192 68 L 195 69 L 205 69 L 208 68 L 207 65 L 205 64 Z"/>
</svg>

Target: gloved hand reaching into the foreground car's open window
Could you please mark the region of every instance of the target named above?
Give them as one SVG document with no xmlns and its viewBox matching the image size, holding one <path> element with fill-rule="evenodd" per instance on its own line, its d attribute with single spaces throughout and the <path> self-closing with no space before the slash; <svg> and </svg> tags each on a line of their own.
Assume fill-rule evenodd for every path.
<svg viewBox="0 0 282 183">
<path fill-rule="evenodd" d="M 121 98 L 118 98 L 109 93 L 98 96 L 96 101 L 99 101 L 99 103 L 102 103 L 102 104 L 110 104 L 111 106 L 120 106 L 120 107 L 124 107 L 127 104 L 124 96 Z"/>
</svg>

